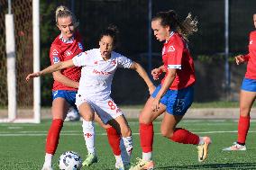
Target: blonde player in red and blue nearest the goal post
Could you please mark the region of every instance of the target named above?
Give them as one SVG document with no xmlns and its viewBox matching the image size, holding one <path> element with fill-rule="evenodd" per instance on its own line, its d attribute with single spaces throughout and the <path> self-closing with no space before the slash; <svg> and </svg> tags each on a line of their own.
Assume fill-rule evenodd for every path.
<svg viewBox="0 0 256 170">
<path fill-rule="evenodd" d="M 59 28 L 60 35 L 52 42 L 50 47 L 51 64 L 72 59 L 84 51 L 81 37 L 78 34 L 78 31 L 76 31 L 78 22 L 76 21 L 75 15 L 71 13 L 66 6 L 59 6 L 57 8 L 56 23 Z M 57 149 L 59 133 L 63 126 L 63 120 L 65 120 L 67 116 L 69 106 L 77 108 L 75 102 L 80 76 L 80 67 L 69 67 L 53 73 L 54 84 L 52 88 L 53 101 L 51 107 L 52 122 L 46 140 L 45 161 L 42 167 L 44 170 L 52 169 L 51 160 Z M 98 117 L 96 116 L 96 118 Z M 116 160 L 120 160 L 121 158 L 119 157 L 121 157 L 121 150 L 118 145 L 118 142 L 120 142 L 120 136 L 111 126 L 104 125 L 103 127 L 106 129 L 109 143 L 114 150 Z M 85 136 L 85 139 L 86 138 L 87 137 Z"/>
</svg>

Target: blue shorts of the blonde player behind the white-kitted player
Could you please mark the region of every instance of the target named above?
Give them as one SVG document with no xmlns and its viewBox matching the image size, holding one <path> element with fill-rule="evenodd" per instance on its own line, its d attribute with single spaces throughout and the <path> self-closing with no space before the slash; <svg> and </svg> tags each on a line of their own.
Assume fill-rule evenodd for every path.
<svg viewBox="0 0 256 170">
<path fill-rule="evenodd" d="M 56 91 L 52 91 L 52 100 L 61 97 L 63 99 L 65 99 L 71 106 L 74 106 L 75 108 L 77 108 L 76 106 L 76 94 L 77 91 L 70 91 L 70 90 L 56 90 Z"/>
</svg>

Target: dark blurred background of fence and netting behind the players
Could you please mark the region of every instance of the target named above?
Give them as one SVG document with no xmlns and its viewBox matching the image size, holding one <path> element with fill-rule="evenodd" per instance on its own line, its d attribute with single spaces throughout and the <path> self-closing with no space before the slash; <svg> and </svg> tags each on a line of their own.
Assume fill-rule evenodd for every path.
<svg viewBox="0 0 256 170">
<path fill-rule="evenodd" d="M 238 101 L 239 89 L 246 66 L 235 66 L 233 56 L 248 53 L 250 31 L 255 30 L 252 14 L 255 0 L 229 0 L 229 36 L 225 39 L 225 0 L 41 0 L 41 68 L 50 65 L 51 42 L 59 35 L 55 10 L 66 5 L 77 16 L 78 30 L 86 49 L 98 47 L 100 31 L 109 23 L 120 30 L 120 45 L 115 51 L 139 62 L 150 73 L 161 65 L 162 43 L 151 34 L 151 15 L 169 9 L 180 19 L 187 13 L 197 16 L 198 31 L 189 38 L 189 48 L 195 60 L 197 84 L 195 102 Z M 5 13 L 8 1 L 0 0 L 0 105 L 7 105 Z M 25 76 L 32 72 L 32 0 L 13 0 L 18 104 L 32 103 L 32 83 Z M 228 55 L 225 43 L 228 40 Z M 149 53 L 150 52 L 150 53 Z M 41 77 L 41 105 L 51 105 L 52 76 Z M 156 85 L 159 82 L 155 82 Z M 142 79 L 130 70 L 119 70 L 114 76 L 113 98 L 118 104 L 142 104 L 149 93 Z"/>
</svg>

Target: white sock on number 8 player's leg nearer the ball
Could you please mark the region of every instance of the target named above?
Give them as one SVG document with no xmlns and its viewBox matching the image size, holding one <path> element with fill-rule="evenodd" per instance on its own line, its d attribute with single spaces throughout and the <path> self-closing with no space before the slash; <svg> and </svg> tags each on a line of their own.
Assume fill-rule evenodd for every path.
<svg viewBox="0 0 256 170">
<path fill-rule="evenodd" d="M 91 154 L 96 154 L 95 148 L 95 126 L 93 121 L 83 120 L 83 133 L 87 144 L 87 151 Z"/>
</svg>

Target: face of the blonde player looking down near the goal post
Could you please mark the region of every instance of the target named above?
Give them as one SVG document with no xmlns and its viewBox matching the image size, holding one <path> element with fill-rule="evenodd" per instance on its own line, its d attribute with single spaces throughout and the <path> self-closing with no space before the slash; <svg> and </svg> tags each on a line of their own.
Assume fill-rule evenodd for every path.
<svg viewBox="0 0 256 170">
<path fill-rule="evenodd" d="M 58 18 L 58 28 L 64 39 L 68 40 L 73 36 L 75 26 L 71 16 Z"/>
</svg>

